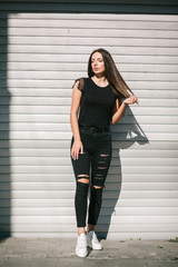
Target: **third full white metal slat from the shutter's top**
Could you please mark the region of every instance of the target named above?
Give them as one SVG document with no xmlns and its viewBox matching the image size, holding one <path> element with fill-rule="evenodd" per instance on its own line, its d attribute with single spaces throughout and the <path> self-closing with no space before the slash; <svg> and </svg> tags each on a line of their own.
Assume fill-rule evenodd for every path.
<svg viewBox="0 0 178 267">
<path fill-rule="evenodd" d="M 178 24 L 177 24 L 178 27 Z M 176 33 L 178 37 L 178 33 Z M 14 44 L 36 44 L 36 46 L 50 46 L 51 43 L 55 43 L 56 46 L 75 46 L 76 43 L 80 43 L 80 46 L 89 46 L 93 44 L 96 40 L 96 37 L 38 37 L 34 34 L 33 37 L 9 37 L 8 38 L 8 46 L 14 46 Z M 4 37 L 0 37 L 0 42 L 2 44 L 7 44 L 7 39 Z M 130 40 L 128 37 L 125 39 L 122 38 L 111 38 L 108 36 L 105 37 L 98 37 L 97 34 L 97 44 L 100 46 L 120 46 L 120 47 L 130 47 Z M 178 40 L 177 39 L 161 39 L 161 38 L 131 38 L 131 46 L 132 47 L 168 47 L 168 48 L 177 48 Z"/>
</svg>

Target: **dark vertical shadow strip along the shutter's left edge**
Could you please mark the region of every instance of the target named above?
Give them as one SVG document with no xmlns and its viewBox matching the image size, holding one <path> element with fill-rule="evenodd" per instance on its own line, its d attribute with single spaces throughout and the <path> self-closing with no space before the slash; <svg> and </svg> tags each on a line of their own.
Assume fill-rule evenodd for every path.
<svg viewBox="0 0 178 267">
<path fill-rule="evenodd" d="M 9 106 L 11 95 L 7 83 L 8 20 L 3 14 L 0 38 L 0 240 L 11 236 L 11 177 L 9 145 Z"/>
</svg>

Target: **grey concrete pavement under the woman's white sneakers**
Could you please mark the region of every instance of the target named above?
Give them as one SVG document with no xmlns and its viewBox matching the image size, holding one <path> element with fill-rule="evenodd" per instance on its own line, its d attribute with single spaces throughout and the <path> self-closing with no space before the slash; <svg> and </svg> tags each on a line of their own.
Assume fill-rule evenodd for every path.
<svg viewBox="0 0 178 267">
<path fill-rule="evenodd" d="M 7 238 L 0 267 L 178 267 L 176 240 L 101 240 L 101 251 L 75 254 L 77 239 Z"/>
</svg>

